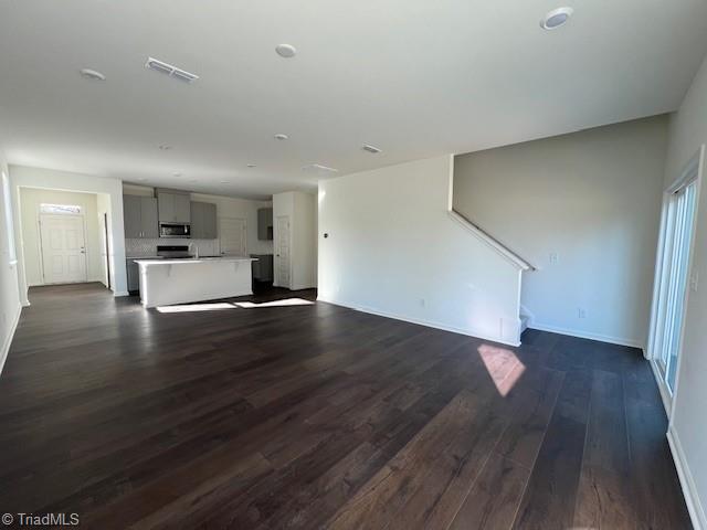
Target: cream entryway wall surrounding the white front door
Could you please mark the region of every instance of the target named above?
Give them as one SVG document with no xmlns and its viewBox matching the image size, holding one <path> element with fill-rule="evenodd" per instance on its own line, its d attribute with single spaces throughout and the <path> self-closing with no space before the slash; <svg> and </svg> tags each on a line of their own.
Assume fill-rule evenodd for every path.
<svg viewBox="0 0 707 530">
<path fill-rule="evenodd" d="M 72 204 L 82 208 L 86 234 L 86 277 L 88 282 L 103 280 L 104 266 L 101 264 L 101 234 L 96 194 L 22 188 L 20 190 L 20 212 L 22 218 L 24 271 L 28 285 L 44 285 L 39 225 L 40 204 L 42 203 Z"/>
</svg>

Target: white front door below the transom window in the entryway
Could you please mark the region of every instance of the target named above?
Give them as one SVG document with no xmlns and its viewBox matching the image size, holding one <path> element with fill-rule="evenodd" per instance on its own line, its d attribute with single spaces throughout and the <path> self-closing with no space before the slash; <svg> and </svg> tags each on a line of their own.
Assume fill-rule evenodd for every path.
<svg viewBox="0 0 707 530">
<path fill-rule="evenodd" d="M 86 282 L 86 234 L 82 215 L 40 215 L 45 284 Z"/>
</svg>

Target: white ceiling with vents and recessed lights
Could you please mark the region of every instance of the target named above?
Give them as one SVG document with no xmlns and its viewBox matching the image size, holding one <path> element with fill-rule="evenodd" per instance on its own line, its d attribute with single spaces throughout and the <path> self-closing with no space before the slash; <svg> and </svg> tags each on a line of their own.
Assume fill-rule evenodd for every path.
<svg viewBox="0 0 707 530">
<path fill-rule="evenodd" d="M 707 1 L 576 0 L 541 30 L 562 1 L 4 0 L 3 147 L 10 163 L 262 198 L 313 188 L 310 163 L 344 174 L 677 108 Z"/>
</svg>

